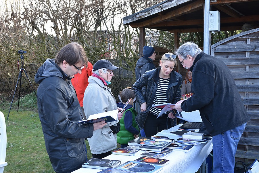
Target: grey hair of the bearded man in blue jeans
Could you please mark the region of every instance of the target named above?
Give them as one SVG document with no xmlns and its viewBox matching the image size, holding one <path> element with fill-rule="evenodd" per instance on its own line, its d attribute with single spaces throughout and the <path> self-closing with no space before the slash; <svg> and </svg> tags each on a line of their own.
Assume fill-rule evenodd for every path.
<svg viewBox="0 0 259 173">
<path fill-rule="evenodd" d="M 198 47 L 197 44 L 193 42 L 184 43 L 176 50 L 175 54 L 181 56 L 183 59 L 187 58 L 187 55 L 195 58 L 196 54 L 201 54 L 203 51 Z"/>
</svg>

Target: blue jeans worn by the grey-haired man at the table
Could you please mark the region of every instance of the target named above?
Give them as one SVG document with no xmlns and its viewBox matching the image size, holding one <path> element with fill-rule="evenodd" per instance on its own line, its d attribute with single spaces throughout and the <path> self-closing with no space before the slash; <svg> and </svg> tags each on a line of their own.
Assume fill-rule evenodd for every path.
<svg viewBox="0 0 259 173">
<path fill-rule="evenodd" d="M 237 143 L 246 123 L 213 136 L 213 173 L 233 173 Z"/>
</svg>

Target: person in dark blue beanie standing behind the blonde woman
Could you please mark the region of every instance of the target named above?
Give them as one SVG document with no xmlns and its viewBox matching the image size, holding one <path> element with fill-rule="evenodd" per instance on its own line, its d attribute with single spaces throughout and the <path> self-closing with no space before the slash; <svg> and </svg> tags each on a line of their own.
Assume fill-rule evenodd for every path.
<svg viewBox="0 0 259 173">
<path fill-rule="evenodd" d="M 143 47 L 143 56 L 139 58 L 136 64 L 135 68 L 135 75 L 136 75 L 136 80 L 141 77 L 146 71 L 156 69 L 155 64 L 153 64 L 153 61 L 156 59 L 156 53 L 155 49 L 150 46 L 144 46 Z M 146 90 L 145 87 L 142 88 L 143 95 L 145 95 Z M 140 105 L 139 103 L 136 102 L 134 103 L 135 110 L 137 113 L 140 110 Z M 140 130 L 141 136 L 145 136 L 144 130 Z"/>
</svg>

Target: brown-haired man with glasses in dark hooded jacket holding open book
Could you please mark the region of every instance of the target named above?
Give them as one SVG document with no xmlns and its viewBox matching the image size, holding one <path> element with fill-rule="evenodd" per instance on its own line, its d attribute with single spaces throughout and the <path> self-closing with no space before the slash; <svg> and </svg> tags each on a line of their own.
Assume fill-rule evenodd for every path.
<svg viewBox="0 0 259 173">
<path fill-rule="evenodd" d="M 106 125 L 105 121 L 82 125 L 81 111 L 70 80 L 87 64 L 85 50 L 78 43 L 65 45 L 38 69 L 35 82 L 39 118 L 45 146 L 55 172 L 72 172 L 86 161 L 85 138 Z"/>
</svg>

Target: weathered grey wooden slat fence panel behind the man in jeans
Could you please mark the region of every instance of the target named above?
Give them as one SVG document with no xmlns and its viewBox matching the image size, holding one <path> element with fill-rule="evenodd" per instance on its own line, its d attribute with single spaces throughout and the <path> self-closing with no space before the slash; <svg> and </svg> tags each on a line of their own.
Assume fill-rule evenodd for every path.
<svg viewBox="0 0 259 173">
<path fill-rule="evenodd" d="M 235 159 L 253 162 L 259 159 L 259 28 L 212 45 L 211 55 L 229 67 L 251 117 L 239 141 Z"/>
</svg>

